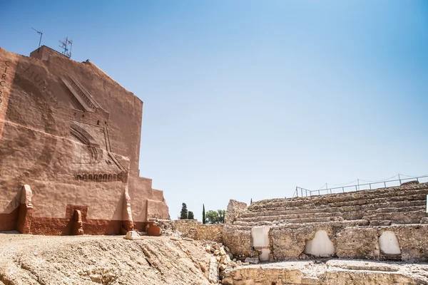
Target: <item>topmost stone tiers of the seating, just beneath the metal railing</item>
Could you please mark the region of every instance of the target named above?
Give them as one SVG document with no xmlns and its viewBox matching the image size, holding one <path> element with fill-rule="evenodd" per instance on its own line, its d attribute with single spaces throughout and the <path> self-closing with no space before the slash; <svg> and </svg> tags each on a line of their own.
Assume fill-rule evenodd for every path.
<svg viewBox="0 0 428 285">
<path fill-rule="evenodd" d="M 367 200 L 374 198 L 407 197 L 409 195 L 428 194 L 428 184 L 416 185 L 412 187 L 390 187 L 379 190 L 363 190 L 359 192 L 346 192 L 340 194 L 321 195 L 312 197 L 297 197 L 290 199 L 270 199 L 254 202 L 248 207 L 249 211 L 258 212 L 259 210 L 277 209 L 279 207 L 313 207 L 314 204 L 361 204 L 366 202 L 352 202 L 358 200 Z"/>
</svg>

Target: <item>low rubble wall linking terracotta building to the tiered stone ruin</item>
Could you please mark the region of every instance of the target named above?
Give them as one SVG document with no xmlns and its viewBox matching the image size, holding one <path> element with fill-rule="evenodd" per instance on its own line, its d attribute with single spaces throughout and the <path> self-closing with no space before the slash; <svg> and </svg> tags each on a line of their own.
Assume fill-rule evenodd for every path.
<svg viewBox="0 0 428 285">
<path fill-rule="evenodd" d="M 196 219 L 176 219 L 171 224 L 183 237 L 223 242 L 223 224 L 202 224 Z"/>
</svg>

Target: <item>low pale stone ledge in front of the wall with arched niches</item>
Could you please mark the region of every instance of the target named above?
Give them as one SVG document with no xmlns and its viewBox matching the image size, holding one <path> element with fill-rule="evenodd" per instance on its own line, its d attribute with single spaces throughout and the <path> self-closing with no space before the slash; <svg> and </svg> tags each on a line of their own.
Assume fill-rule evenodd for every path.
<svg viewBox="0 0 428 285">
<path fill-rule="evenodd" d="M 373 261 L 284 261 L 224 271 L 223 285 L 427 284 L 427 264 Z"/>
</svg>

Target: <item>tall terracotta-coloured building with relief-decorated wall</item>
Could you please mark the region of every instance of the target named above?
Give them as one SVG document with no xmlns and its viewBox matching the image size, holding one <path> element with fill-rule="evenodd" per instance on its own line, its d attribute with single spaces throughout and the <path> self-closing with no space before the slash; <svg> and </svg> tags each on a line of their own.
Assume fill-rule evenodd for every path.
<svg viewBox="0 0 428 285">
<path fill-rule="evenodd" d="M 143 102 L 91 61 L 0 48 L 0 231 L 121 234 L 168 218 L 139 176 Z"/>
</svg>

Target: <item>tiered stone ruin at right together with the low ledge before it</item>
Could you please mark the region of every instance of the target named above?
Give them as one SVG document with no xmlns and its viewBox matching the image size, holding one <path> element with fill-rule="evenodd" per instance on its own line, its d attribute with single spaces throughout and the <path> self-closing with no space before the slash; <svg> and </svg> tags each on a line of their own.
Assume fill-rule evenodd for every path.
<svg viewBox="0 0 428 285">
<path fill-rule="evenodd" d="M 226 269 L 223 284 L 420 284 L 419 270 L 411 268 L 428 261 L 427 195 L 428 183 L 414 181 L 248 207 L 231 200 L 223 244 L 236 259 L 268 263 Z"/>
</svg>

